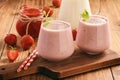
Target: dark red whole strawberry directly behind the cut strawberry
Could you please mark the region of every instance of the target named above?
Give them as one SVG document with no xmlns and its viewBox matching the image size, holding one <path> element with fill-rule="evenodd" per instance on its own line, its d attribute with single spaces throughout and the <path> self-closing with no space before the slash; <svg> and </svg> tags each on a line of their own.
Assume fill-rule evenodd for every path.
<svg viewBox="0 0 120 80">
<path fill-rule="evenodd" d="M 6 44 L 13 46 L 17 43 L 17 37 L 15 34 L 7 34 L 4 38 L 4 41 Z"/>
</svg>

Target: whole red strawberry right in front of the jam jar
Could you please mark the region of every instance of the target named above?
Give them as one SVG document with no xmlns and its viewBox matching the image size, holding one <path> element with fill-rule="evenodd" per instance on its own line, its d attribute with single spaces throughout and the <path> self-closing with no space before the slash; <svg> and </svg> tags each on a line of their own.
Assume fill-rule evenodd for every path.
<svg viewBox="0 0 120 80">
<path fill-rule="evenodd" d="M 20 44 L 24 50 L 27 50 L 34 44 L 34 39 L 30 35 L 24 35 L 20 40 Z"/>
</svg>

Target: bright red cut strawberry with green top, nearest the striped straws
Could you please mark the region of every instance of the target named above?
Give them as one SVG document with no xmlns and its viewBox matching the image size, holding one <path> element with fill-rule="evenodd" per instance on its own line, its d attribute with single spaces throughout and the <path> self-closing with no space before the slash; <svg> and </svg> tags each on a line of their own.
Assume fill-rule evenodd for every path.
<svg viewBox="0 0 120 80">
<path fill-rule="evenodd" d="M 7 50 L 7 57 L 10 61 L 16 60 L 18 57 L 18 50 L 11 47 L 10 50 Z"/>
</svg>

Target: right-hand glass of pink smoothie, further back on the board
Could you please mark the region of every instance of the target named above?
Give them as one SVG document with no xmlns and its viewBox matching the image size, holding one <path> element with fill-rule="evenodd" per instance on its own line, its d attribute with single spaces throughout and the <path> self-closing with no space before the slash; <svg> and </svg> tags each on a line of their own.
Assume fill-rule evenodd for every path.
<svg viewBox="0 0 120 80">
<path fill-rule="evenodd" d="M 78 47 L 88 54 L 99 54 L 110 47 L 110 27 L 105 17 L 94 15 L 80 20 L 76 38 Z"/>
</svg>

